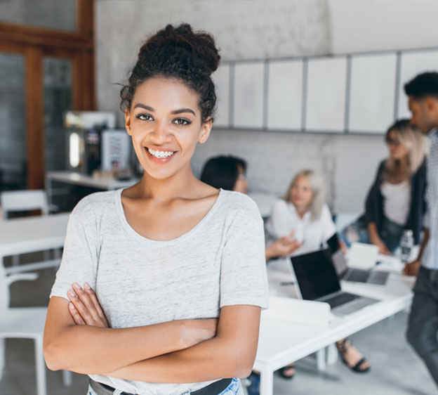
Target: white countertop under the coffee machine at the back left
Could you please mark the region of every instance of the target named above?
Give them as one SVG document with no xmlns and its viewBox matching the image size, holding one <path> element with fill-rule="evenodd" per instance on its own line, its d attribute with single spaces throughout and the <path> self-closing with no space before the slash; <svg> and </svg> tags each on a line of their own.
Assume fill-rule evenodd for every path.
<svg viewBox="0 0 438 395">
<path fill-rule="evenodd" d="M 49 181 L 60 181 L 62 183 L 70 183 L 74 185 L 89 186 L 103 190 L 112 190 L 126 188 L 136 183 L 137 179 L 128 181 L 119 181 L 116 179 L 94 178 L 88 174 L 76 173 L 74 171 L 48 171 L 46 179 Z"/>
</svg>

